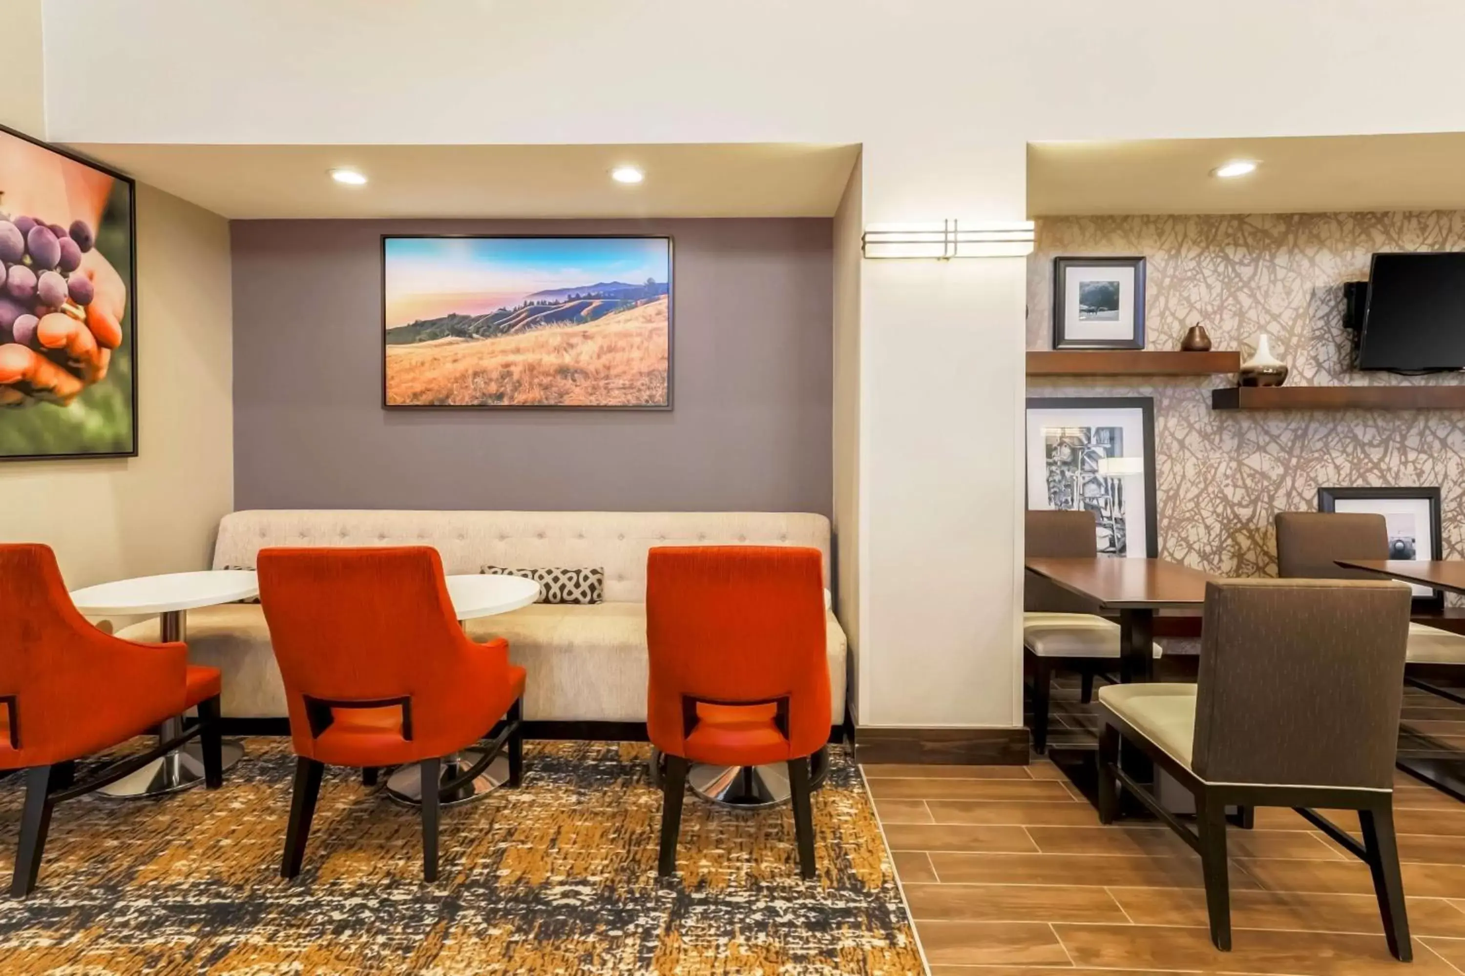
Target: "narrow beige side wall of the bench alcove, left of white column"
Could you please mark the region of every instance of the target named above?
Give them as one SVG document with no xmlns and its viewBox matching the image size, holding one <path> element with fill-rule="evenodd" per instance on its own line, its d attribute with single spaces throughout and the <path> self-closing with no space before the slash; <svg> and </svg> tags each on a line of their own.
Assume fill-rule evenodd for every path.
<svg viewBox="0 0 1465 976">
<path fill-rule="evenodd" d="M 856 161 L 834 215 L 835 613 L 850 638 L 850 701 L 860 694 L 860 236 L 864 176 Z"/>
</svg>

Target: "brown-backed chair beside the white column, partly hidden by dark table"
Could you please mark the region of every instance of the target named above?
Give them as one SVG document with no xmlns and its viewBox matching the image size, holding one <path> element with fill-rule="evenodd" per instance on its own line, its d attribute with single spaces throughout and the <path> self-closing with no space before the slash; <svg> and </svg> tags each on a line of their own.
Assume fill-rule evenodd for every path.
<svg viewBox="0 0 1465 976">
<path fill-rule="evenodd" d="M 1093 559 L 1099 555 L 1094 514 L 1088 511 L 1028 512 L 1026 552 L 1047 559 Z M 1154 645 L 1160 656 L 1160 645 Z M 1099 616 L 1099 607 L 1027 574 L 1023 582 L 1023 657 L 1033 676 L 1033 748 L 1047 748 L 1049 697 L 1053 669 L 1075 670 L 1083 677 L 1083 701 L 1093 697 L 1094 673 L 1121 663 L 1119 625 Z"/>
</svg>

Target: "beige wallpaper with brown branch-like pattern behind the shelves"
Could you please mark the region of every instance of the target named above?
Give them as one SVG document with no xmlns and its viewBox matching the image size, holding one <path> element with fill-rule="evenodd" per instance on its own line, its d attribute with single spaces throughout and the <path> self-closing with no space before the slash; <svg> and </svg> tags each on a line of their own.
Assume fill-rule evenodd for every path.
<svg viewBox="0 0 1465 976">
<path fill-rule="evenodd" d="M 1144 255 L 1147 348 L 1200 322 L 1213 348 L 1257 332 L 1288 383 L 1459 383 L 1459 375 L 1349 372 L 1342 284 L 1376 250 L 1465 250 L 1465 212 L 1075 217 L 1039 222 L 1027 347 L 1052 338 L 1058 255 Z M 1250 353 L 1250 347 L 1245 350 Z M 1440 486 L 1446 558 L 1465 558 L 1465 416 L 1455 411 L 1213 411 L 1234 376 L 1028 378 L 1045 397 L 1154 397 L 1160 556 L 1223 575 L 1275 575 L 1272 515 L 1316 511 L 1318 486 Z"/>
</svg>

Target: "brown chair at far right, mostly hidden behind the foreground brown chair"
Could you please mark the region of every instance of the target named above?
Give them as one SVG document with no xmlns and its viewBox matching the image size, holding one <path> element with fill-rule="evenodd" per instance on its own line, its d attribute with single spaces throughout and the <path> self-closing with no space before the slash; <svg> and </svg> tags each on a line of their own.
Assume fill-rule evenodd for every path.
<svg viewBox="0 0 1465 976">
<path fill-rule="evenodd" d="M 1339 559 L 1387 559 L 1389 527 L 1383 515 L 1365 512 L 1279 512 L 1277 575 L 1305 579 L 1379 579 L 1343 569 Z M 1465 637 L 1424 623 L 1409 623 L 1409 664 L 1465 664 Z M 1417 677 L 1405 682 L 1465 705 L 1465 697 Z"/>
</svg>

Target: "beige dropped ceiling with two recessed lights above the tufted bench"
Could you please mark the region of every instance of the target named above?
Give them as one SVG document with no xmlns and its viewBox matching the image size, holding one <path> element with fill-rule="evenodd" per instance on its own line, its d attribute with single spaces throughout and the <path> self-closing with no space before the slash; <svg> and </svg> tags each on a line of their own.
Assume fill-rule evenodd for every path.
<svg viewBox="0 0 1465 976">
<path fill-rule="evenodd" d="M 854 145 L 259 146 L 70 143 L 233 219 L 829 217 Z M 633 164 L 636 186 L 609 171 Z M 362 187 L 328 170 L 353 167 Z"/>
</svg>

